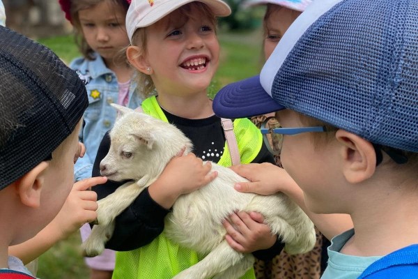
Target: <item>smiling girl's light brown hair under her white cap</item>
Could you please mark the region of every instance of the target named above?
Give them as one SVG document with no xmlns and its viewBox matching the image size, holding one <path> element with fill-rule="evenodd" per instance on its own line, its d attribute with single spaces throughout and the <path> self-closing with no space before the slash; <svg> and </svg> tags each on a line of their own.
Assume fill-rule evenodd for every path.
<svg viewBox="0 0 418 279">
<path fill-rule="evenodd" d="M 198 13 L 192 13 L 192 8 L 196 8 Z M 198 18 L 200 15 L 206 15 L 210 20 L 210 23 L 213 24 L 214 27 L 217 25 L 217 20 L 215 17 L 215 13 L 205 4 L 199 1 L 194 1 L 191 3 L 187 3 L 184 6 L 181 6 L 177 10 L 172 13 L 179 13 L 181 14 L 182 18 L 186 21 L 193 18 Z M 170 14 L 171 15 L 171 14 Z M 147 27 L 139 28 L 135 30 L 132 36 L 132 43 L 137 47 L 141 48 L 141 54 L 145 55 L 147 53 L 146 45 L 147 45 Z M 216 31 L 216 30 L 215 30 Z M 140 91 L 143 98 L 148 98 L 153 94 L 155 91 L 155 85 L 153 80 L 151 79 L 150 75 L 146 75 L 141 73 L 139 70 L 135 70 L 134 81 L 137 82 L 138 86 L 140 87 Z"/>
</svg>

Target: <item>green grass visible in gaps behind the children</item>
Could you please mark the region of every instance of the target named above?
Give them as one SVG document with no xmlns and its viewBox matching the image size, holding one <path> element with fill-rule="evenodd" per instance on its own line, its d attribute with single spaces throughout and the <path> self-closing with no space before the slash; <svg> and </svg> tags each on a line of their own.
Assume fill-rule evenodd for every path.
<svg viewBox="0 0 418 279">
<path fill-rule="evenodd" d="M 38 40 L 51 48 L 65 63 L 79 56 L 72 36 Z M 221 57 L 219 69 L 208 93 L 214 96 L 224 85 L 251 77 L 261 68 L 261 35 L 251 33 L 219 33 Z M 39 258 L 38 278 L 85 279 L 88 269 L 80 251 L 80 236 L 76 232 L 68 240 L 57 243 Z"/>
</svg>

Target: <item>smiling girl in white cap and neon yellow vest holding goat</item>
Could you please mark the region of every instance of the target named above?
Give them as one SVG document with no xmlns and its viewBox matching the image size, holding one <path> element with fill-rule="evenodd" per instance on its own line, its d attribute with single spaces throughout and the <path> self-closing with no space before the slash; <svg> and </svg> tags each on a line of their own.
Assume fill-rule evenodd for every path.
<svg viewBox="0 0 418 279">
<path fill-rule="evenodd" d="M 203 165 L 202 160 L 225 166 L 231 166 L 235 158 L 242 164 L 274 162 L 261 133 L 249 119 L 233 121 L 233 140 L 238 144 L 226 141 L 231 132 L 224 133 L 222 126 L 231 123 L 215 116 L 207 95 L 219 63 L 216 17 L 230 13 L 221 0 L 182 0 L 176 5 L 169 0 L 134 0 L 130 5 L 126 25 L 131 46 L 127 58 L 139 72 L 138 84 L 144 87 L 143 92 L 147 96 L 157 93 L 144 100 L 141 110 L 174 123 L 192 140 L 196 155 L 173 158 L 160 178 L 116 218 L 107 248 L 125 252 L 116 253 L 114 278 L 168 279 L 199 262 L 201 255 L 171 243 L 162 232 L 164 217 L 176 199 L 215 179 L 210 163 Z M 244 130 L 246 133 L 242 133 Z M 104 136 L 93 175 L 100 175 L 100 161 L 109 145 L 109 137 Z M 95 188 L 98 198 L 113 193 L 118 185 L 108 182 Z M 240 220 L 249 228 L 241 239 L 242 246 L 248 252 L 258 250 L 254 252 L 256 257 L 277 255 L 283 248 L 281 241 L 263 224 L 263 216 L 257 217 L 256 221 L 247 216 Z M 242 278 L 255 278 L 254 270 Z"/>
</svg>

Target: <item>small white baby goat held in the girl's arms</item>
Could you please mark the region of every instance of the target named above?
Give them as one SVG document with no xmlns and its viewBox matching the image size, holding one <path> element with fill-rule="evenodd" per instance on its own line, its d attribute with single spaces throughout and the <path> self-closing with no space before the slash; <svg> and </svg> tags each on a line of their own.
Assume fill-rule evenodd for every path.
<svg viewBox="0 0 418 279">
<path fill-rule="evenodd" d="M 99 255 L 114 230 L 114 219 L 144 188 L 162 173 L 169 160 L 192 143 L 175 126 L 152 116 L 114 105 L 120 112 L 110 132 L 109 153 L 102 160 L 102 172 L 109 179 L 125 183 L 98 204 L 98 224 L 83 243 L 85 255 Z M 174 278 L 240 278 L 254 264 L 251 254 L 233 250 L 224 236 L 222 220 L 234 211 L 263 214 L 272 233 L 286 243 L 285 250 L 296 254 L 311 250 L 316 241 L 314 225 L 307 215 L 286 195 L 262 196 L 238 193 L 233 185 L 247 181 L 231 169 L 212 163 L 217 178 L 208 185 L 180 196 L 173 211 L 165 218 L 164 233 L 175 243 L 206 255 L 201 262 Z"/>
</svg>

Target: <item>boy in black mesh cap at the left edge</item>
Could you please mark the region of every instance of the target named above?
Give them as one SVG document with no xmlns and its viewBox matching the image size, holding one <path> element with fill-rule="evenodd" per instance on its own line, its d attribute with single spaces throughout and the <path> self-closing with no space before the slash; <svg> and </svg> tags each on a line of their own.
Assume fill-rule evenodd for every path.
<svg viewBox="0 0 418 279">
<path fill-rule="evenodd" d="M 0 37 L 0 278 L 33 278 L 8 248 L 36 236 L 72 190 L 88 100 L 47 47 L 6 27 Z"/>
</svg>

